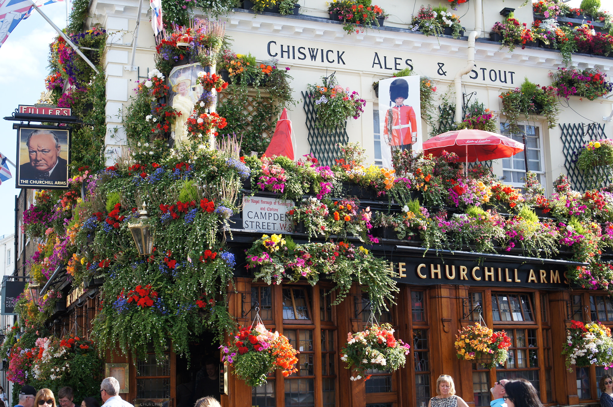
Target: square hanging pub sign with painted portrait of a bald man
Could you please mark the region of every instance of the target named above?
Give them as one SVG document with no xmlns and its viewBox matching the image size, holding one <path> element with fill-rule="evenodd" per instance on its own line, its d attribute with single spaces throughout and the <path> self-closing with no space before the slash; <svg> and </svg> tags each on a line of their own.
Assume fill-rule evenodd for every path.
<svg viewBox="0 0 613 407">
<path fill-rule="evenodd" d="M 17 188 L 67 189 L 69 164 L 70 129 L 18 126 Z"/>
</svg>

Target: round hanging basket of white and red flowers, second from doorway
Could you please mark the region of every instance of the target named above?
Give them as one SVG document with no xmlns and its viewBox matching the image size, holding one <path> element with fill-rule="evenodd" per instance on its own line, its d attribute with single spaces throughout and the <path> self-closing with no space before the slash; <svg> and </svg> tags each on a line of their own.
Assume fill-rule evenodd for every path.
<svg viewBox="0 0 613 407">
<path fill-rule="evenodd" d="M 394 337 L 390 324 L 373 324 L 357 334 L 347 334 L 347 344 L 341 349 L 341 360 L 347 362 L 346 368 L 356 373 L 349 379 L 368 380 L 370 375 L 366 375 L 367 370 L 395 372 L 404 366 L 410 347 Z"/>
</svg>

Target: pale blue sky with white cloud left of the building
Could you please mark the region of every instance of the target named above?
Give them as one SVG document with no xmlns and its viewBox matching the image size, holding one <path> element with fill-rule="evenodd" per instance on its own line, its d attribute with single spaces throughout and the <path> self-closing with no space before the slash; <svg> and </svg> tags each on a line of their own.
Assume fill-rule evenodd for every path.
<svg viewBox="0 0 613 407">
<path fill-rule="evenodd" d="M 603 0 L 605 9 L 610 7 Z M 568 2 L 571 7 L 579 7 L 581 0 Z M 606 6 L 605 6 L 606 5 Z M 53 22 L 63 29 L 66 27 L 66 4 L 56 2 L 41 7 Z M 49 44 L 55 38 L 56 32 L 40 17 L 36 11 L 31 17 L 21 21 L 4 45 L 0 48 L 0 118 L 10 116 L 17 105 L 29 105 L 40 97 L 45 90 L 45 77 L 48 75 L 47 56 Z M 0 152 L 15 162 L 17 132 L 13 130 L 13 122 L 0 119 Z M 9 165 L 14 174 L 14 168 Z M 20 190 L 15 189 L 14 179 L 0 185 L 0 235 L 10 234 L 15 230 L 14 208 L 15 195 Z"/>
</svg>

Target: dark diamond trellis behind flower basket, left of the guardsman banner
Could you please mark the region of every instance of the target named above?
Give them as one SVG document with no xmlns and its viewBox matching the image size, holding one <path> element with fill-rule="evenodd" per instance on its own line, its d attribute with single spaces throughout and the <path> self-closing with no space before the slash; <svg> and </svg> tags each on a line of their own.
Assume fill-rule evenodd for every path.
<svg viewBox="0 0 613 407">
<path fill-rule="evenodd" d="M 304 103 L 302 108 L 307 114 L 307 130 L 308 143 L 311 146 L 311 154 L 313 154 L 322 165 L 332 166 L 334 159 L 340 154 L 340 148 L 337 143 L 349 143 L 347 135 L 346 122 L 343 127 L 337 127 L 334 130 L 323 130 L 317 125 L 317 114 L 315 112 L 315 103 L 311 92 L 301 92 Z"/>
</svg>

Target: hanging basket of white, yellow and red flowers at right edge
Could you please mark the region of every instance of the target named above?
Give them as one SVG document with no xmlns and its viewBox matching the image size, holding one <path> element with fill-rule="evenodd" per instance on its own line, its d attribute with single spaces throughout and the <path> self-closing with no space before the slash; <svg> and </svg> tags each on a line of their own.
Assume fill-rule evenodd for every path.
<svg viewBox="0 0 613 407">
<path fill-rule="evenodd" d="M 573 372 L 571 365 L 587 367 L 589 365 L 613 366 L 613 339 L 611 329 L 598 322 L 582 323 L 571 321 L 566 330 L 566 343 L 562 348 L 566 356 L 566 367 Z"/>
</svg>

